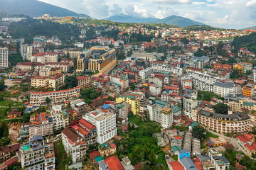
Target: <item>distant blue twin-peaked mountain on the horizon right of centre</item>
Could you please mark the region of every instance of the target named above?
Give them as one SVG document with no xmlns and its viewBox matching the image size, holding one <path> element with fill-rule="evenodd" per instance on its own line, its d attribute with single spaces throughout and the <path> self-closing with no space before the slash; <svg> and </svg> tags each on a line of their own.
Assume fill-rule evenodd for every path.
<svg viewBox="0 0 256 170">
<path fill-rule="evenodd" d="M 181 16 L 168 16 L 163 19 L 159 18 L 140 18 L 134 16 L 127 16 L 123 13 L 119 13 L 115 16 L 110 16 L 109 18 L 105 18 L 108 21 L 114 21 L 119 23 L 166 23 L 174 26 L 186 27 L 186 26 L 194 26 L 194 25 L 204 25 L 203 23 L 199 23 L 197 21 L 193 21 L 188 18 L 184 18 Z"/>
</svg>

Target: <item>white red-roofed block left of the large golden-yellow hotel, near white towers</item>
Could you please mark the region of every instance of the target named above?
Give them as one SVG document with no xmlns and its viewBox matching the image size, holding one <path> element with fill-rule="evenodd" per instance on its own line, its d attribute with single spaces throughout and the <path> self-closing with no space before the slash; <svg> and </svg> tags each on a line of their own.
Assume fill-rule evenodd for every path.
<svg viewBox="0 0 256 170">
<path fill-rule="evenodd" d="M 31 56 L 31 62 L 58 62 L 58 54 L 55 52 L 38 52 Z"/>
</svg>

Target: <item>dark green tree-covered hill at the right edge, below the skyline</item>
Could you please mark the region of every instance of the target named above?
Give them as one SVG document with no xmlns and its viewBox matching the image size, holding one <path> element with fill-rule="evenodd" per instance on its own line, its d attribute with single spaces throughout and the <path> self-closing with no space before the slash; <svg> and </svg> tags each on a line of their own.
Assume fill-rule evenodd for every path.
<svg viewBox="0 0 256 170">
<path fill-rule="evenodd" d="M 234 52 L 238 52 L 241 47 L 247 47 L 250 52 L 256 54 L 256 33 L 236 37 L 232 44 L 234 45 Z"/>
</svg>

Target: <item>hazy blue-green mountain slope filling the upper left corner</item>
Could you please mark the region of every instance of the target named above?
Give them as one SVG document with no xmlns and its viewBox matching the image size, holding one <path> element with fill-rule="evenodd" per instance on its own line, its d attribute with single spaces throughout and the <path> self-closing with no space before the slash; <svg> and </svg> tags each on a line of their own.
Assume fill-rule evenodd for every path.
<svg viewBox="0 0 256 170">
<path fill-rule="evenodd" d="M 0 12 L 9 14 L 23 14 L 30 17 L 43 16 L 80 16 L 87 17 L 85 14 L 75 13 L 65 8 L 50 5 L 38 0 L 0 0 Z"/>
</svg>

